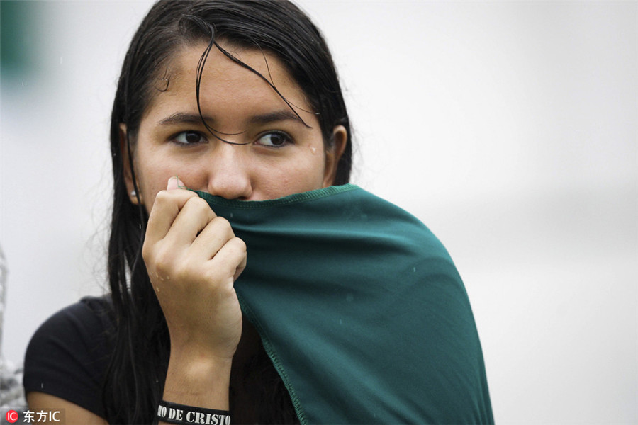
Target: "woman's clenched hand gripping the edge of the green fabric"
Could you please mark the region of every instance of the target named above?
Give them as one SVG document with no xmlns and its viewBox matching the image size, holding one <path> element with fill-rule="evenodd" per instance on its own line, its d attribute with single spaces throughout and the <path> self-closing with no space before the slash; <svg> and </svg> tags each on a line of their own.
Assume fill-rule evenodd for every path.
<svg viewBox="0 0 638 425">
<path fill-rule="evenodd" d="M 157 193 L 142 256 L 162 306 L 177 358 L 228 361 L 239 343 L 242 312 L 233 284 L 246 246 L 230 224 L 177 177 Z"/>
</svg>

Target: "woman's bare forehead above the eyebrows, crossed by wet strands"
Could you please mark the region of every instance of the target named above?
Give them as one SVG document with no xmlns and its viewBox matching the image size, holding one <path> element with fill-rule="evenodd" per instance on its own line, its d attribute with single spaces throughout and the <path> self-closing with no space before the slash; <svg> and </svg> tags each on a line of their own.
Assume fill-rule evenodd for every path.
<svg viewBox="0 0 638 425">
<path fill-rule="evenodd" d="M 205 115 L 228 111 L 264 113 L 272 108 L 289 109 L 290 106 L 286 104 L 288 101 L 303 120 L 315 118 L 306 95 L 279 58 L 257 49 L 232 45 L 222 47 L 246 67 L 212 47 L 201 70 L 199 100 Z M 175 108 L 197 111 L 198 63 L 205 50 L 206 44 L 198 44 L 177 51 L 167 67 L 165 77 L 157 81 L 157 93 L 145 115 L 166 113 L 164 110 Z"/>
</svg>

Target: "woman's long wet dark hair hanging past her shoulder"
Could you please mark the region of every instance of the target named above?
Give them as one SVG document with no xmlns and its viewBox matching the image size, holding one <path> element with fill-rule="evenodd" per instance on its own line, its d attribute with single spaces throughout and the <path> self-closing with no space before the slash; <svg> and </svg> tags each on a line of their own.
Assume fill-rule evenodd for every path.
<svg viewBox="0 0 638 425">
<path fill-rule="evenodd" d="M 294 4 L 280 0 L 180 0 L 159 1 L 151 8 L 125 56 L 111 115 L 113 216 L 108 277 L 116 329 L 103 395 L 106 419 L 111 424 L 152 422 L 169 358 L 166 322 L 141 258 L 147 212 L 141 203 L 136 206 L 130 202 L 124 161 L 128 156 L 135 184 L 131 157 L 140 120 L 157 91 L 169 84 L 167 69 L 177 50 L 201 41 L 209 48 L 220 48 L 218 40 L 269 52 L 281 60 L 318 114 L 326 149 L 331 147 L 335 125 L 344 125 L 348 137 L 351 134 L 328 47 L 318 28 Z M 125 137 L 121 137 L 122 123 L 126 125 Z M 122 147 L 128 155 L 122 154 Z M 335 184 L 349 181 L 351 162 L 352 144 L 348 141 L 337 164 Z M 285 392 L 281 380 L 272 385 Z M 276 397 L 277 392 L 273 394 Z M 264 422 L 296 419 L 294 412 L 263 409 Z"/>
</svg>

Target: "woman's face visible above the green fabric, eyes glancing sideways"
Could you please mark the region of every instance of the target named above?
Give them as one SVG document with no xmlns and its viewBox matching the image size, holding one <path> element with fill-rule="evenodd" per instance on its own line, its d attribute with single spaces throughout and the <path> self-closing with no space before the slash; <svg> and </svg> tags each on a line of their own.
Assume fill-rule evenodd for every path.
<svg viewBox="0 0 638 425">
<path fill-rule="evenodd" d="M 201 113 L 218 137 L 242 145 L 222 142 L 206 130 L 197 109 L 195 79 L 205 48 L 179 52 L 169 67 L 168 84 L 156 83 L 159 90 L 167 84 L 167 90 L 158 91 L 142 116 L 133 164 L 147 211 L 172 176 L 179 176 L 187 188 L 239 200 L 274 199 L 330 186 L 346 131 L 337 126 L 335 147 L 326 151 L 306 96 L 273 55 L 225 47 L 270 79 L 310 128 L 269 84 L 213 48 L 201 78 Z M 130 198 L 137 203 L 135 196 Z"/>
</svg>

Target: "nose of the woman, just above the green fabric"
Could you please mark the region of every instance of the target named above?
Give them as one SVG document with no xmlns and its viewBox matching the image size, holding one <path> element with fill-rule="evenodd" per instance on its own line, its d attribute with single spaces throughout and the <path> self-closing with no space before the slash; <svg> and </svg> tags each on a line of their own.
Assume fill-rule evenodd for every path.
<svg viewBox="0 0 638 425">
<path fill-rule="evenodd" d="M 219 143 L 211 152 L 208 193 L 226 199 L 247 200 L 252 195 L 250 164 L 244 146 Z"/>
</svg>

